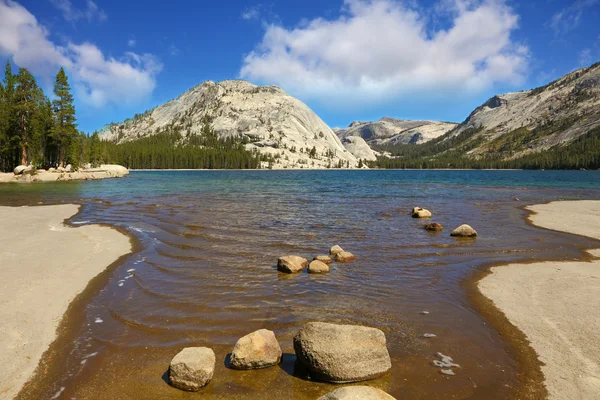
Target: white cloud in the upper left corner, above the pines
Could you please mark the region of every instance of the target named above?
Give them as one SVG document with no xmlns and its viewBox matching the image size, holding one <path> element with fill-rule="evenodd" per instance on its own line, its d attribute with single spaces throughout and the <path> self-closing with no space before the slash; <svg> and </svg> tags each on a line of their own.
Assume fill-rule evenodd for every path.
<svg viewBox="0 0 600 400">
<path fill-rule="evenodd" d="M 151 54 L 128 52 L 115 59 L 91 43 L 57 45 L 29 11 L 11 0 L 0 0 L 0 55 L 12 57 L 46 85 L 65 67 L 77 99 L 94 107 L 147 99 L 162 68 Z"/>
</svg>

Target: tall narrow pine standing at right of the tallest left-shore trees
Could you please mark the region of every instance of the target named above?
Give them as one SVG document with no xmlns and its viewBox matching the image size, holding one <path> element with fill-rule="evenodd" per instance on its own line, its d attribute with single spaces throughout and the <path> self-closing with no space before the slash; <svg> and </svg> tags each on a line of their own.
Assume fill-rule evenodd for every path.
<svg viewBox="0 0 600 400">
<path fill-rule="evenodd" d="M 54 127 L 52 139 L 58 147 L 58 165 L 64 167 L 67 151 L 73 142 L 77 129 L 75 125 L 75 107 L 67 74 L 63 68 L 58 71 L 54 82 L 56 100 L 52 101 Z M 71 149 L 70 153 L 73 153 Z"/>
</svg>

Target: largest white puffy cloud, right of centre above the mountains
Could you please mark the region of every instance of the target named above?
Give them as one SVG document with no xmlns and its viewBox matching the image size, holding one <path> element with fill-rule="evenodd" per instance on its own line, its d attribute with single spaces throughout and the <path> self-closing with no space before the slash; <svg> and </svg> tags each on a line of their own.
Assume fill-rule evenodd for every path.
<svg viewBox="0 0 600 400">
<path fill-rule="evenodd" d="M 503 1 L 444 0 L 434 12 L 450 27 L 432 31 L 430 14 L 394 0 L 345 0 L 337 19 L 267 25 L 240 75 L 343 104 L 522 82 L 528 49 L 511 39 L 518 16 Z"/>
</svg>

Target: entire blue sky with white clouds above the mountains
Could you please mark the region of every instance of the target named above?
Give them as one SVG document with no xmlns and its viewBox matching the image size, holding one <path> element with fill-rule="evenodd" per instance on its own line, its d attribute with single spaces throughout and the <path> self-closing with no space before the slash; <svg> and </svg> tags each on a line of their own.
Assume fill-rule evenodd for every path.
<svg viewBox="0 0 600 400">
<path fill-rule="evenodd" d="M 600 61 L 600 0 L 0 0 L 6 60 L 49 95 L 64 67 L 88 133 L 225 79 L 280 86 L 331 127 L 461 122 Z"/>
</svg>

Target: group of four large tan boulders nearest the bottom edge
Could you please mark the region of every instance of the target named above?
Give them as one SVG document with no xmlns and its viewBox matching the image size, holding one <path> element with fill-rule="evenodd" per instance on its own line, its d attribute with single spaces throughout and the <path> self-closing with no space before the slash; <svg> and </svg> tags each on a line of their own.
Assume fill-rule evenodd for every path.
<svg viewBox="0 0 600 400">
<path fill-rule="evenodd" d="M 352 383 L 378 378 L 392 367 L 385 334 L 376 328 L 309 322 L 294 337 L 294 352 L 311 380 Z M 273 331 L 260 329 L 240 338 L 229 355 L 229 368 L 253 370 L 280 363 L 281 347 Z M 181 350 L 169 366 L 169 382 L 197 392 L 212 379 L 216 357 L 207 347 Z M 394 399 L 369 386 L 336 389 L 320 400 Z"/>
</svg>

